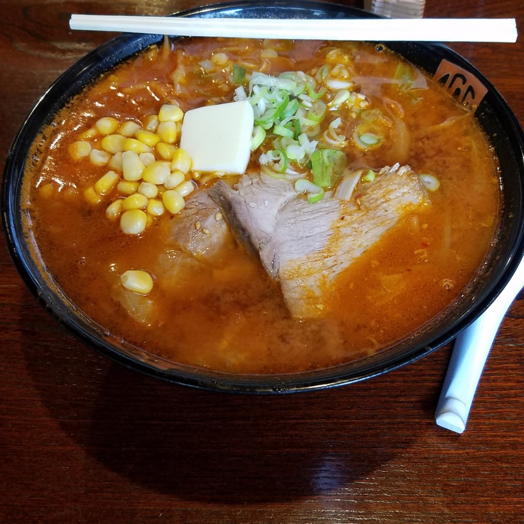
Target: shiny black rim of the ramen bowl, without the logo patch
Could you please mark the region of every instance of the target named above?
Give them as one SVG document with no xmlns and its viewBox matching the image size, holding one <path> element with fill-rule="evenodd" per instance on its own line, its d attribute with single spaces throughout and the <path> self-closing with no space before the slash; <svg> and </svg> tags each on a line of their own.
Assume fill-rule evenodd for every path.
<svg viewBox="0 0 524 524">
<path fill-rule="evenodd" d="M 176 16 L 223 16 L 224 13 L 233 12 L 241 9 L 259 9 L 264 7 L 266 10 L 291 8 L 296 9 L 297 13 L 311 12 L 317 10 L 321 14 L 340 14 L 343 13 L 346 17 L 373 17 L 374 15 L 362 10 L 323 2 L 263 2 L 261 0 L 251 0 L 249 2 L 226 2 L 221 4 L 211 4 L 208 6 L 201 6 L 194 9 L 189 9 L 183 12 L 176 13 Z M 305 11 L 304 11 L 305 10 Z M 380 353 L 381 357 L 374 357 L 369 359 L 367 367 L 364 366 L 366 362 L 359 361 L 357 364 L 342 364 L 332 368 L 312 370 L 310 372 L 293 373 L 285 375 L 236 375 L 221 372 L 212 372 L 202 368 L 191 366 L 180 366 L 174 364 L 174 368 L 169 368 L 169 363 L 161 358 L 155 356 L 144 357 L 140 355 L 140 351 L 135 352 L 134 348 L 130 348 L 126 343 L 117 344 L 114 341 L 110 342 L 107 334 L 104 334 L 102 326 L 96 327 L 89 319 L 87 319 L 81 312 L 74 308 L 74 304 L 69 302 L 67 297 L 61 295 L 54 289 L 53 285 L 46 282 L 47 278 L 43 278 L 39 274 L 36 261 L 28 260 L 28 246 L 27 239 L 21 235 L 21 216 L 16 213 L 17 202 L 16 197 L 19 195 L 16 183 L 20 182 L 23 173 L 20 173 L 20 168 L 17 169 L 20 156 L 23 157 L 23 165 L 25 169 L 25 161 L 28 158 L 28 138 L 29 133 L 33 138 L 30 144 L 34 141 L 37 134 L 35 134 L 35 126 L 38 122 L 39 129 L 49 123 L 50 118 L 55 115 L 63 105 L 65 99 L 58 101 L 53 99 L 54 93 L 61 88 L 64 83 L 68 83 L 68 79 L 72 77 L 73 83 L 68 84 L 68 93 L 72 93 L 67 97 L 67 100 L 74 96 L 75 92 L 81 91 L 85 82 L 82 80 L 85 71 L 92 71 L 91 81 L 99 77 L 102 72 L 108 69 L 106 63 L 118 63 L 126 58 L 133 56 L 138 47 L 145 49 L 151 43 L 160 41 L 162 35 L 128 35 L 124 34 L 117 36 L 103 45 L 97 47 L 95 50 L 81 58 L 73 64 L 67 71 L 53 82 L 50 88 L 40 97 L 38 102 L 32 108 L 31 112 L 26 117 L 23 125 L 20 127 L 13 144 L 10 147 L 7 155 L 6 165 L 4 169 L 4 177 L 2 181 L 2 215 L 4 234 L 7 240 L 9 253 L 17 267 L 18 272 L 23 278 L 26 286 L 37 297 L 39 302 L 50 312 L 50 314 L 71 334 L 83 342 L 85 345 L 93 348 L 95 351 L 111 358 L 130 369 L 145 373 L 148 376 L 160 378 L 175 384 L 191 386 L 201 389 L 211 389 L 218 391 L 240 392 L 240 393 L 258 393 L 258 394 L 273 394 L 273 393 L 289 393 L 297 391 L 309 391 L 316 389 L 331 388 L 334 386 L 347 385 L 357 383 L 362 380 L 383 375 L 391 370 L 397 369 L 401 366 L 413 363 L 418 359 L 428 355 L 442 345 L 449 343 L 454 337 L 471 324 L 479 315 L 481 315 L 489 305 L 495 300 L 500 291 L 509 281 L 511 275 L 514 273 L 522 253 L 524 253 L 524 235 L 523 235 L 523 213 L 522 213 L 522 179 L 524 179 L 524 135 L 522 129 L 517 121 L 517 118 L 510 110 L 503 97 L 498 93 L 494 86 L 473 67 L 469 62 L 463 59 L 455 51 L 451 50 L 440 43 L 413 43 L 414 49 L 416 46 L 422 46 L 420 49 L 434 49 L 439 50 L 449 58 L 453 58 L 453 62 L 466 67 L 468 70 L 474 72 L 477 79 L 486 86 L 490 96 L 495 101 L 497 108 L 502 114 L 497 115 L 504 120 L 505 125 L 508 125 L 512 130 L 512 139 L 517 158 L 517 165 L 519 167 L 516 180 L 516 189 L 518 189 L 518 208 L 515 208 L 517 216 L 514 217 L 518 221 L 520 227 L 515 226 L 515 231 L 511 238 L 511 249 L 505 256 L 503 264 L 499 265 L 499 271 L 493 280 L 489 280 L 489 285 L 483 289 L 482 297 L 475 300 L 471 307 L 465 310 L 464 314 L 455 319 L 451 326 L 441 328 L 438 336 L 434 336 L 429 343 L 418 344 L 409 347 L 409 339 L 404 343 L 407 344 L 407 350 L 400 354 L 390 354 L 388 351 Z M 398 45 L 390 42 L 384 42 L 384 45 L 390 49 L 395 50 Z M 116 51 L 115 51 L 116 48 Z M 125 50 L 125 52 L 122 52 Z M 131 52 L 129 52 L 129 50 Z M 48 106 L 51 105 L 51 108 Z M 520 155 L 520 157 L 519 157 Z M 16 174 L 18 173 L 18 178 Z M 504 172 L 502 176 L 504 176 Z M 41 273 L 41 271 L 40 271 Z M 44 271 L 45 274 L 45 271 Z M 443 321 L 440 321 L 443 322 Z M 156 364 L 152 364 L 156 359 Z M 146 362 L 146 361 L 149 362 Z M 160 364 L 163 367 L 158 367 Z M 166 367 L 167 366 L 167 367 Z M 353 371 L 352 371 L 353 369 Z"/>
</svg>

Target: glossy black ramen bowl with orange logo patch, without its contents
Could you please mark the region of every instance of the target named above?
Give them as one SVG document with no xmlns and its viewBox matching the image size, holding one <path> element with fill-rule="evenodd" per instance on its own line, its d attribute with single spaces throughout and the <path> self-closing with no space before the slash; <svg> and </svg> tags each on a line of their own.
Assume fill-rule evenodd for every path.
<svg viewBox="0 0 524 524">
<path fill-rule="evenodd" d="M 359 9 L 320 2 L 250 0 L 215 4 L 179 13 L 184 17 L 369 18 Z M 384 42 L 441 82 L 460 103 L 477 106 L 475 116 L 490 137 L 500 161 L 503 210 L 494 254 L 470 286 L 440 318 L 408 339 L 374 356 L 327 369 L 289 375 L 232 375 L 169 362 L 147 352 L 108 340 L 62 290 L 42 275 L 31 255 L 21 220 L 21 180 L 28 151 L 39 132 L 72 96 L 114 65 L 162 39 L 162 35 L 124 34 L 97 48 L 53 83 L 30 112 L 9 150 L 3 186 L 4 232 L 10 254 L 29 289 L 65 329 L 94 350 L 129 368 L 176 384 L 234 392 L 283 393 L 350 384 L 416 361 L 450 342 L 486 310 L 509 281 L 522 258 L 524 136 L 510 108 L 470 63 L 439 43 Z"/>
</svg>

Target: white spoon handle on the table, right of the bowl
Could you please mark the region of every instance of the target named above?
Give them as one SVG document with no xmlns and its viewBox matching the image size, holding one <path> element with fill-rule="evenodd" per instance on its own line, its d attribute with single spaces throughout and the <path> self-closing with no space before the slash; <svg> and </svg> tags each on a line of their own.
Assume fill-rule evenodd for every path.
<svg viewBox="0 0 524 524">
<path fill-rule="evenodd" d="M 467 417 L 489 350 L 506 311 L 522 287 L 524 259 L 488 309 L 456 337 L 435 411 L 435 422 L 441 427 L 456 433 L 466 429 Z"/>
</svg>

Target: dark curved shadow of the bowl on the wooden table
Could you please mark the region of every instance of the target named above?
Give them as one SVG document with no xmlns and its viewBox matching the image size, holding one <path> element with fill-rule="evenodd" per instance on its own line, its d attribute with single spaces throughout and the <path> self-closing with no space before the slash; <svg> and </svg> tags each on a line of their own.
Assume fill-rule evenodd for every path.
<svg viewBox="0 0 524 524">
<path fill-rule="evenodd" d="M 29 373 L 62 430 L 130 482 L 185 500 L 333 493 L 402 453 L 427 429 L 422 418 L 432 424 L 435 392 L 424 390 L 412 367 L 332 390 L 244 396 L 131 372 L 58 326 L 49 333 L 28 327 L 27 339 L 34 341 L 24 350 Z M 420 381 L 409 403 L 406 374 Z"/>
</svg>

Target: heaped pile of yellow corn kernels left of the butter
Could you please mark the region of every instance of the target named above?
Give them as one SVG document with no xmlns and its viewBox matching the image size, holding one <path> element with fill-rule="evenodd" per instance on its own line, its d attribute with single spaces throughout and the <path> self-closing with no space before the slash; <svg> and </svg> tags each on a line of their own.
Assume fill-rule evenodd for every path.
<svg viewBox="0 0 524 524">
<path fill-rule="evenodd" d="M 74 160 L 88 159 L 108 171 L 84 191 L 93 205 L 110 202 L 106 216 L 128 235 L 139 235 L 155 217 L 179 213 L 196 189 L 191 158 L 177 147 L 183 112 L 164 104 L 140 124 L 100 118 L 68 148 Z"/>
</svg>

